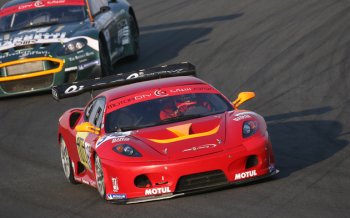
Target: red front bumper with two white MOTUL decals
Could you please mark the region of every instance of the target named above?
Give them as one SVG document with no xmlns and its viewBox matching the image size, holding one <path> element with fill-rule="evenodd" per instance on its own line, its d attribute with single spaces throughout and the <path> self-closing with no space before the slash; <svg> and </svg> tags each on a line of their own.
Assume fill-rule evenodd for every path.
<svg viewBox="0 0 350 218">
<path fill-rule="evenodd" d="M 251 182 L 278 173 L 267 136 L 254 138 L 222 152 L 190 159 L 150 163 L 102 160 L 102 165 L 106 198 L 116 203 L 174 198 Z M 140 176 L 146 176 L 151 184 L 138 186 L 136 181 Z"/>
</svg>

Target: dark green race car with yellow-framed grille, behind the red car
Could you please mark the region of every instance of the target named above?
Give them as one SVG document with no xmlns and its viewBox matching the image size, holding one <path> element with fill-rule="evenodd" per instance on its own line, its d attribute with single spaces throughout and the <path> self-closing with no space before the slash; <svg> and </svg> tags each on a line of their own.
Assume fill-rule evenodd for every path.
<svg viewBox="0 0 350 218">
<path fill-rule="evenodd" d="M 139 30 L 125 0 L 11 0 L 0 10 L 0 97 L 112 74 L 137 57 Z"/>
</svg>

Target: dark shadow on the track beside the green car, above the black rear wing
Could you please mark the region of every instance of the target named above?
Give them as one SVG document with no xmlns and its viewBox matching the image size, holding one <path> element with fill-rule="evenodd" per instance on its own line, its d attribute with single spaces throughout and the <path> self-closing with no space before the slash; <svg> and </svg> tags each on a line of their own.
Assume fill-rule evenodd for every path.
<svg viewBox="0 0 350 218">
<path fill-rule="evenodd" d="M 184 49 L 191 49 L 191 44 L 199 44 L 211 39 L 206 39 L 217 22 L 226 22 L 243 16 L 243 13 L 217 16 L 211 18 L 179 21 L 150 26 L 140 26 L 140 57 L 137 61 L 129 62 L 122 60 L 117 62 L 115 73 L 123 73 L 137 69 L 144 69 L 168 63 L 171 59 L 178 57 Z M 209 25 L 208 25 L 209 24 Z M 180 61 L 191 61 L 191 57 Z"/>
</svg>

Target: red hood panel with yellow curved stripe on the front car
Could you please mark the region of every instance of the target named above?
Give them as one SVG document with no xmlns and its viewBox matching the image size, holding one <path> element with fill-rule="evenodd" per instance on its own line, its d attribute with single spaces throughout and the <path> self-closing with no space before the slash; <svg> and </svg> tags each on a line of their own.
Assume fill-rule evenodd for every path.
<svg viewBox="0 0 350 218">
<path fill-rule="evenodd" d="M 147 128 L 133 136 L 170 160 L 212 154 L 225 147 L 225 114 Z"/>
</svg>

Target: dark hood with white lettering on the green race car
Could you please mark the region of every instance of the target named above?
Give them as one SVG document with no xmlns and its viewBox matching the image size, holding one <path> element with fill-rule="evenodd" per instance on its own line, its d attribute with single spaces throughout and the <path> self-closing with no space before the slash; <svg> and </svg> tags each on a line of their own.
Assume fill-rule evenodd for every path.
<svg viewBox="0 0 350 218">
<path fill-rule="evenodd" d="M 79 22 L 0 33 L 0 60 L 55 55 L 58 46 L 82 35 L 89 26 L 88 22 Z"/>
</svg>

